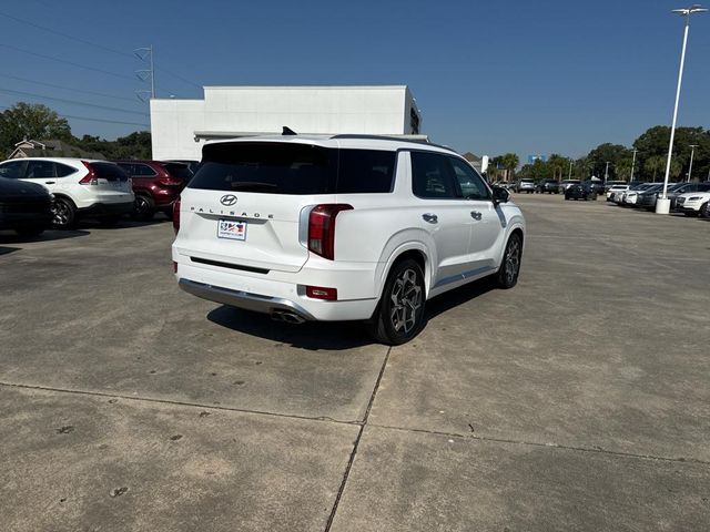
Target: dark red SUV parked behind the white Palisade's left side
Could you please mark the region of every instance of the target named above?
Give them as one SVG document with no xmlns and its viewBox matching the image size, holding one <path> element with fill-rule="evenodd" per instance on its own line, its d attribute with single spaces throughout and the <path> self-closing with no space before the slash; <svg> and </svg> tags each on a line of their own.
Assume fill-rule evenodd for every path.
<svg viewBox="0 0 710 532">
<path fill-rule="evenodd" d="M 134 217 L 152 219 L 158 211 L 172 216 L 173 203 L 192 178 L 184 163 L 163 161 L 115 161 L 133 182 Z"/>
</svg>

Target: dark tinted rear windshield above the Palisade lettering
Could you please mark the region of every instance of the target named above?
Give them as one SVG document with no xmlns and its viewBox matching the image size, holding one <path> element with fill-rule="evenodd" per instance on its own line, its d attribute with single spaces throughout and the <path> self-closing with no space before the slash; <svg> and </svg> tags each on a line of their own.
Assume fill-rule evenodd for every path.
<svg viewBox="0 0 710 532">
<path fill-rule="evenodd" d="M 270 194 L 329 194 L 336 151 L 311 144 L 239 142 L 209 144 L 191 188 Z"/>
</svg>

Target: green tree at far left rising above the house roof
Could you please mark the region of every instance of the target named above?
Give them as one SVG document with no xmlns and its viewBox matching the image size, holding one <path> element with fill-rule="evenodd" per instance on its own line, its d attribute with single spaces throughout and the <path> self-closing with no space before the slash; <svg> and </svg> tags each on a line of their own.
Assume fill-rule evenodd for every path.
<svg viewBox="0 0 710 532">
<path fill-rule="evenodd" d="M 24 139 L 71 141 L 71 127 L 47 105 L 18 102 L 0 113 L 0 151 L 9 153 Z"/>
</svg>

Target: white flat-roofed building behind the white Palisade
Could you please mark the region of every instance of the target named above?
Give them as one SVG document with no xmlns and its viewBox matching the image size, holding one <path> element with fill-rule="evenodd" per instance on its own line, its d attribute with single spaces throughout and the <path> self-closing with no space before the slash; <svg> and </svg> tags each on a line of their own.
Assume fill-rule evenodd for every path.
<svg viewBox="0 0 710 532">
<path fill-rule="evenodd" d="M 199 160 L 204 141 L 281 134 L 372 134 L 426 140 L 406 85 L 205 86 L 204 100 L 151 100 L 153 158 Z"/>
</svg>

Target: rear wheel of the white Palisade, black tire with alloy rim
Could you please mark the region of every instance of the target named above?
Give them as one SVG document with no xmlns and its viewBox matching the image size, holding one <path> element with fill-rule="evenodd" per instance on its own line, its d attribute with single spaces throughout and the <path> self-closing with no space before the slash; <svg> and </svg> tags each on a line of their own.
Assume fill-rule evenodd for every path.
<svg viewBox="0 0 710 532">
<path fill-rule="evenodd" d="M 404 259 L 392 267 L 372 323 L 371 335 L 388 346 L 406 344 L 424 328 L 426 294 L 419 265 Z"/>
</svg>

